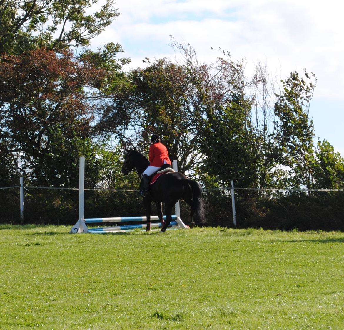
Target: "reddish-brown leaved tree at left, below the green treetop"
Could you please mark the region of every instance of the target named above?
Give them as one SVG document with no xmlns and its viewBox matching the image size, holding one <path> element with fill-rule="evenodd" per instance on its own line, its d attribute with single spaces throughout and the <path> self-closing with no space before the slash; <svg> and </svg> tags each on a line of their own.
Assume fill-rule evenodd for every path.
<svg viewBox="0 0 344 330">
<path fill-rule="evenodd" d="M 3 55 L 2 143 L 32 182 L 75 186 L 79 154 L 94 149 L 89 99 L 101 79 L 102 69 L 68 51 Z"/>
</svg>

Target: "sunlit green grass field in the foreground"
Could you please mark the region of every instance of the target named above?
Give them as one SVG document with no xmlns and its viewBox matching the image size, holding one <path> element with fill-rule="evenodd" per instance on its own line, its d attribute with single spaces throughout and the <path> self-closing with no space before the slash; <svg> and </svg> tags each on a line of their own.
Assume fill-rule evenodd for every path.
<svg viewBox="0 0 344 330">
<path fill-rule="evenodd" d="M 344 233 L 0 225 L 0 329 L 344 329 Z"/>
</svg>

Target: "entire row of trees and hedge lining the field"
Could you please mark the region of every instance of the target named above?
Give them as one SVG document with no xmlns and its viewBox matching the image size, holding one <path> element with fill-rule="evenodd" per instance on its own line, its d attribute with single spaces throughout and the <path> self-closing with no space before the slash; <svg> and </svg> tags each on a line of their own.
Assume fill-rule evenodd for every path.
<svg viewBox="0 0 344 330">
<path fill-rule="evenodd" d="M 326 140 L 314 144 L 309 117 L 313 74 L 292 72 L 283 80 L 281 92 L 275 94 L 273 125 L 266 99 L 260 124 L 257 114 L 252 119 L 259 108 L 257 93 L 249 88 L 266 88 L 266 77 L 260 72 L 248 80 L 244 62 L 232 61 L 228 52 L 214 63 L 201 64 L 192 47 L 173 41 L 182 62 L 146 59 L 146 68 L 129 73 L 123 72 L 130 60 L 118 57 L 123 53 L 119 44 L 73 54 L 69 47 L 87 47 L 119 14 L 112 0 L 89 14 L 96 3 L 0 3 L 0 186 L 17 185 L 22 175 L 26 185 L 75 188 L 78 159 L 85 156 L 86 188 L 110 189 L 87 193 L 87 212 L 142 214 L 137 191 L 119 192 L 138 188 L 135 173 L 125 178 L 120 172 L 119 143 L 147 150 L 150 134 L 156 132 L 171 159 L 178 159 L 179 170 L 206 188 L 228 187 L 231 180 L 245 188 L 343 188 L 343 158 Z M 263 96 L 267 98 L 266 90 Z M 319 202 L 319 196 L 310 195 L 301 194 L 298 204 L 293 194 L 238 193 L 241 225 L 261 221 L 266 228 L 332 228 L 321 225 L 318 217 L 313 224 L 309 221 L 310 210 L 318 210 L 314 205 Z M 18 197 L 8 191 L 2 200 L 13 196 Z M 333 207 L 340 196 L 324 200 Z M 222 206 L 229 203 L 227 191 L 207 191 L 205 199 L 211 210 L 208 224 L 227 226 L 228 210 Z M 76 217 L 73 193 L 59 197 L 56 191 L 26 191 L 26 201 L 29 221 L 61 223 L 63 218 L 70 223 Z M 307 214 L 301 212 L 302 205 Z M 17 221 L 19 212 L 6 211 L 5 221 Z M 341 229 L 340 212 L 335 207 L 328 211 Z M 184 207 L 182 212 L 186 215 Z M 167 317 L 160 311 L 153 315 Z"/>
</svg>

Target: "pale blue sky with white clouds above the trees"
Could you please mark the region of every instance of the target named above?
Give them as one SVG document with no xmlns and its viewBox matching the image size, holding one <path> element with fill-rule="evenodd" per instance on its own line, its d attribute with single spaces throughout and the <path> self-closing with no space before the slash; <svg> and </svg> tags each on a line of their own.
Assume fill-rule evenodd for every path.
<svg viewBox="0 0 344 330">
<path fill-rule="evenodd" d="M 99 0 L 98 5 L 102 0 Z M 271 77 L 313 72 L 317 84 L 310 106 L 315 136 L 344 157 L 344 3 L 327 0 L 117 0 L 121 13 L 92 43 L 118 42 L 131 68 L 142 59 L 175 60 L 171 36 L 190 44 L 198 61 L 231 59 L 267 66 Z M 213 48 L 213 50 L 212 50 Z M 129 68 L 128 68 L 129 69 Z"/>
</svg>

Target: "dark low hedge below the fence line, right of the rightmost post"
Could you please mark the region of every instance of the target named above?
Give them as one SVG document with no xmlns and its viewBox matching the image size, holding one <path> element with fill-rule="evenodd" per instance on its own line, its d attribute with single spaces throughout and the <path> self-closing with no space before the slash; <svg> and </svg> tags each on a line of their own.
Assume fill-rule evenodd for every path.
<svg viewBox="0 0 344 330">
<path fill-rule="evenodd" d="M 280 230 L 344 230 L 343 192 L 290 192 L 238 203 L 240 226 Z M 241 214 L 240 214 L 241 213 Z"/>
</svg>

